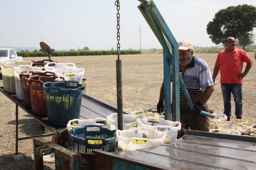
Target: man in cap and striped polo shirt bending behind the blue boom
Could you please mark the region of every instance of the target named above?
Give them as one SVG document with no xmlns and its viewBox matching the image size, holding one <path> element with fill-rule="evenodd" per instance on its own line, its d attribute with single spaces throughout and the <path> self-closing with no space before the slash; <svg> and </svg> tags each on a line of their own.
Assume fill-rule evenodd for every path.
<svg viewBox="0 0 256 170">
<path fill-rule="evenodd" d="M 214 82 L 212 81 L 209 66 L 202 59 L 193 56 L 193 45 L 189 41 L 183 40 L 178 44 L 180 72 L 186 89 L 188 90 L 188 94 L 194 105 L 194 110 L 190 111 L 184 92 L 182 91 L 182 88 L 180 88 L 181 126 L 184 129 L 209 131 L 209 117 L 200 115 L 201 110 L 208 112 L 206 102 L 214 91 Z M 158 113 L 163 112 L 164 109 L 164 84 L 161 86 L 157 109 Z"/>
</svg>

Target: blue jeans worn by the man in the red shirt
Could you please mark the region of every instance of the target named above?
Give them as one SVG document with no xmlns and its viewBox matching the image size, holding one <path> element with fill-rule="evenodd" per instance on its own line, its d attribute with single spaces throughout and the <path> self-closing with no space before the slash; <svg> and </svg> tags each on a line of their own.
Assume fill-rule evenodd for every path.
<svg viewBox="0 0 256 170">
<path fill-rule="evenodd" d="M 242 84 L 221 84 L 222 96 L 224 100 L 224 114 L 227 117 L 231 116 L 231 93 L 234 97 L 234 102 L 236 103 L 236 118 L 241 119 L 243 113 L 242 104 Z"/>
</svg>

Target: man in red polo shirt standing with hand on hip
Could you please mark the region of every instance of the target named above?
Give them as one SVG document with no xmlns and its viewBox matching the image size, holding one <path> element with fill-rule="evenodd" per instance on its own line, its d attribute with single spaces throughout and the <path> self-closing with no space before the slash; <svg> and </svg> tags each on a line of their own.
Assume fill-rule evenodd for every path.
<svg viewBox="0 0 256 170">
<path fill-rule="evenodd" d="M 236 103 L 236 119 L 242 119 L 242 84 L 244 83 L 243 78 L 252 67 L 252 59 L 244 50 L 236 48 L 235 38 L 228 37 L 225 41 L 225 45 L 226 49 L 220 51 L 216 59 L 212 80 L 215 82 L 215 78 L 220 70 L 224 114 L 228 117 L 227 121 L 230 121 L 231 93 Z M 247 64 L 244 72 L 242 72 L 244 62 Z"/>
</svg>

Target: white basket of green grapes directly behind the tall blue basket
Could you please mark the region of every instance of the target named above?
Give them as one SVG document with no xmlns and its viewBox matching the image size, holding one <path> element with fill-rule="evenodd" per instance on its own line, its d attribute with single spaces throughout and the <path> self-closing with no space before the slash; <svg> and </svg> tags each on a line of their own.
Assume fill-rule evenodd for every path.
<svg viewBox="0 0 256 170">
<path fill-rule="evenodd" d="M 61 66 L 51 70 L 55 72 L 57 76 L 64 77 L 67 81 L 75 81 L 82 84 L 82 78 L 84 76 L 84 68 L 75 68 L 70 66 Z"/>
</svg>

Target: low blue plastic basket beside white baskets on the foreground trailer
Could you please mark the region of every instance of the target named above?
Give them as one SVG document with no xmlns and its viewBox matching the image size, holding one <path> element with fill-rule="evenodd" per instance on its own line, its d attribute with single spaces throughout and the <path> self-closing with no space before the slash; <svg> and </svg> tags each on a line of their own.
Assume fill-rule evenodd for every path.
<svg viewBox="0 0 256 170">
<path fill-rule="evenodd" d="M 99 125 L 86 125 L 84 127 L 70 129 L 69 133 L 72 150 L 80 153 L 92 153 L 93 149 L 114 152 L 116 143 L 116 136 L 114 136 L 115 132 L 116 130 L 103 128 Z M 96 135 L 102 135 L 104 138 L 91 138 Z M 88 143 L 88 140 L 102 141 L 102 143 L 94 145 Z"/>
</svg>

